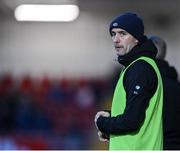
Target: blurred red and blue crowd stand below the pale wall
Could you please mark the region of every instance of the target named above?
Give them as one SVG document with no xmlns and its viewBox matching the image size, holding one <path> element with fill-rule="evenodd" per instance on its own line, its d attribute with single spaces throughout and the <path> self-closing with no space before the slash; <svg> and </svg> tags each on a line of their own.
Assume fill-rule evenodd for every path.
<svg viewBox="0 0 180 151">
<path fill-rule="evenodd" d="M 93 149 L 94 115 L 112 90 L 109 78 L 1 75 L 0 149 Z"/>
</svg>

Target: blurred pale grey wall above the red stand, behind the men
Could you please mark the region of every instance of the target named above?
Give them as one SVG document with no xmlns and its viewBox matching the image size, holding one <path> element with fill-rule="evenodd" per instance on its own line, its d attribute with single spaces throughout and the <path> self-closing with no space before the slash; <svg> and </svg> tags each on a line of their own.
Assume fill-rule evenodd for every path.
<svg viewBox="0 0 180 151">
<path fill-rule="evenodd" d="M 0 73 L 53 77 L 109 75 L 117 63 L 108 24 L 113 17 L 127 10 L 136 11 L 143 17 L 147 34 L 157 34 L 167 41 L 167 60 L 180 73 L 180 7 L 178 0 L 166 2 L 159 0 L 155 5 L 137 0 L 133 3 L 85 0 L 80 3 L 79 18 L 71 23 L 22 23 L 15 21 L 12 15 L 2 17 Z M 167 25 L 161 25 L 155 18 L 157 14 L 167 16 L 168 24 L 165 19 Z"/>
</svg>

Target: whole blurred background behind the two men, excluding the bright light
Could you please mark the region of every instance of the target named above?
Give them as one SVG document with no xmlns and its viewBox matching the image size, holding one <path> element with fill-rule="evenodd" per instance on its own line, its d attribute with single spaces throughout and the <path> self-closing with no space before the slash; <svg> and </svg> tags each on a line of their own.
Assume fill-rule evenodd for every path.
<svg viewBox="0 0 180 151">
<path fill-rule="evenodd" d="M 21 4 L 75 4 L 71 22 L 19 22 Z M 124 11 L 167 42 L 180 73 L 179 0 L 0 0 L 0 149 L 107 149 L 94 115 L 110 109 L 120 71 L 110 21 Z"/>
</svg>

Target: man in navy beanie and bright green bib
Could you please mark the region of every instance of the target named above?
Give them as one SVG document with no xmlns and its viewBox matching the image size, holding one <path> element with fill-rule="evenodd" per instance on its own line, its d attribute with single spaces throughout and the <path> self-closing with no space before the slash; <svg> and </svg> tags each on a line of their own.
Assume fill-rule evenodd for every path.
<svg viewBox="0 0 180 151">
<path fill-rule="evenodd" d="M 115 18 L 109 28 L 117 60 L 124 66 L 117 82 L 111 113 L 100 111 L 95 125 L 109 149 L 162 149 L 163 89 L 155 63 L 157 49 L 144 35 L 134 13 Z"/>
</svg>

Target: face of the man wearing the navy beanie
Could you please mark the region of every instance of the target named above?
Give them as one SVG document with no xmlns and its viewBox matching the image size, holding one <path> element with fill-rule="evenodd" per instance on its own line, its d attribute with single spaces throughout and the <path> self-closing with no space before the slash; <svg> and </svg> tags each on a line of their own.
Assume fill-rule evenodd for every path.
<svg viewBox="0 0 180 151">
<path fill-rule="evenodd" d="M 111 35 L 118 56 L 127 54 L 138 43 L 137 39 L 121 28 L 113 28 Z"/>
</svg>

